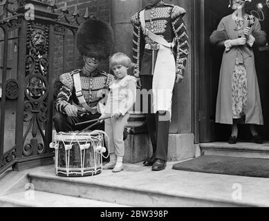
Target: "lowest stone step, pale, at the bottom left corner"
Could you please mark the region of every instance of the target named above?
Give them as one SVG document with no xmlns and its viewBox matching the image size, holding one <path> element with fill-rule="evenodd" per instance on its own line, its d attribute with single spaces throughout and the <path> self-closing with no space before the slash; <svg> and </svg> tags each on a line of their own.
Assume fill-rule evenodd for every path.
<svg viewBox="0 0 269 221">
<path fill-rule="evenodd" d="M 124 205 L 42 191 L 24 191 L 0 197 L 0 207 L 124 207 Z"/>
</svg>

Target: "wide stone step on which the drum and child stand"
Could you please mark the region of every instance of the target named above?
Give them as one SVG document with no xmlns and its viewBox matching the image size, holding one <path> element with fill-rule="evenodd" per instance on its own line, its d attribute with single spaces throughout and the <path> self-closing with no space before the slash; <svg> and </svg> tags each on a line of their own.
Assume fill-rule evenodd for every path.
<svg viewBox="0 0 269 221">
<path fill-rule="evenodd" d="M 236 177 L 188 171 L 151 171 L 149 167 L 124 164 L 124 171 L 102 171 L 93 177 L 59 177 L 55 169 L 28 173 L 36 191 L 111 202 L 128 206 L 265 206 L 263 197 L 252 202 L 252 191 L 245 199 L 232 200 L 232 184 L 249 177 Z M 229 184 L 227 183 L 229 181 Z M 203 186 L 203 189 L 201 189 Z M 223 192 L 219 192 L 223 188 Z M 257 194 L 257 193 L 256 193 Z M 250 195 L 250 196 L 248 196 Z"/>
</svg>

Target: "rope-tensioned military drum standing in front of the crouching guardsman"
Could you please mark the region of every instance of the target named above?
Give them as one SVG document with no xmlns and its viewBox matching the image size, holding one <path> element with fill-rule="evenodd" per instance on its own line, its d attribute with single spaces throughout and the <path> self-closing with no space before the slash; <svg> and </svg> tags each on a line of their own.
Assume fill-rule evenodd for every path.
<svg viewBox="0 0 269 221">
<path fill-rule="evenodd" d="M 83 177 L 102 172 L 104 131 L 56 133 L 50 148 L 55 148 L 56 175 Z"/>
</svg>

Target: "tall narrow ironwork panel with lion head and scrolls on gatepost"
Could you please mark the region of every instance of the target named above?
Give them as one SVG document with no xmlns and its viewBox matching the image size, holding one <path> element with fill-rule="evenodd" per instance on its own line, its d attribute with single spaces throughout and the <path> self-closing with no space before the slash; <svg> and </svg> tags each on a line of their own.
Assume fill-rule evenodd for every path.
<svg viewBox="0 0 269 221">
<path fill-rule="evenodd" d="M 24 156 L 43 154 L 46 148 L 37 139 L 37 133 L 44 142 L 44 126 L 48 121 L 48 44 L 49 28 L 44 23 L 28 21 L 27 57 L 24 101 L 24 122 L 28 122 L 24 133 Z M 31 131 L 30 143 L 26 137 Z"/>
</svg>

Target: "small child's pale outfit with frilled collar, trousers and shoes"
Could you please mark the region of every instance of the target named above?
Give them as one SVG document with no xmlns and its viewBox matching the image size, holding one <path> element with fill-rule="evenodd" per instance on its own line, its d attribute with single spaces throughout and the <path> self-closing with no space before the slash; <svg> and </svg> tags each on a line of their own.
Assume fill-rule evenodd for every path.
<svg viewBox="0 0 269 221">
<path fill-rule="evenodd" d="M 127 126 L 129 119 L 129 110 L 136 102 L 136 78 L 126 75 L 122 79 L 112 81 L 109 86 L 110 93 L 106 101 L 106 107 L 102 116 L 111 116 L 120 112 L 122 115 L 118 118 L 106 119 L 104 122 L 104 131 L 109 136 L 109 152 L 117 156 L 117 163 L 110 162 L 104 169 L 111 169 L 115 165 L 113 172 L 119 172 L 123 169 L 122 158 L 124 156 L 123 131 Z"/>
</svg>

